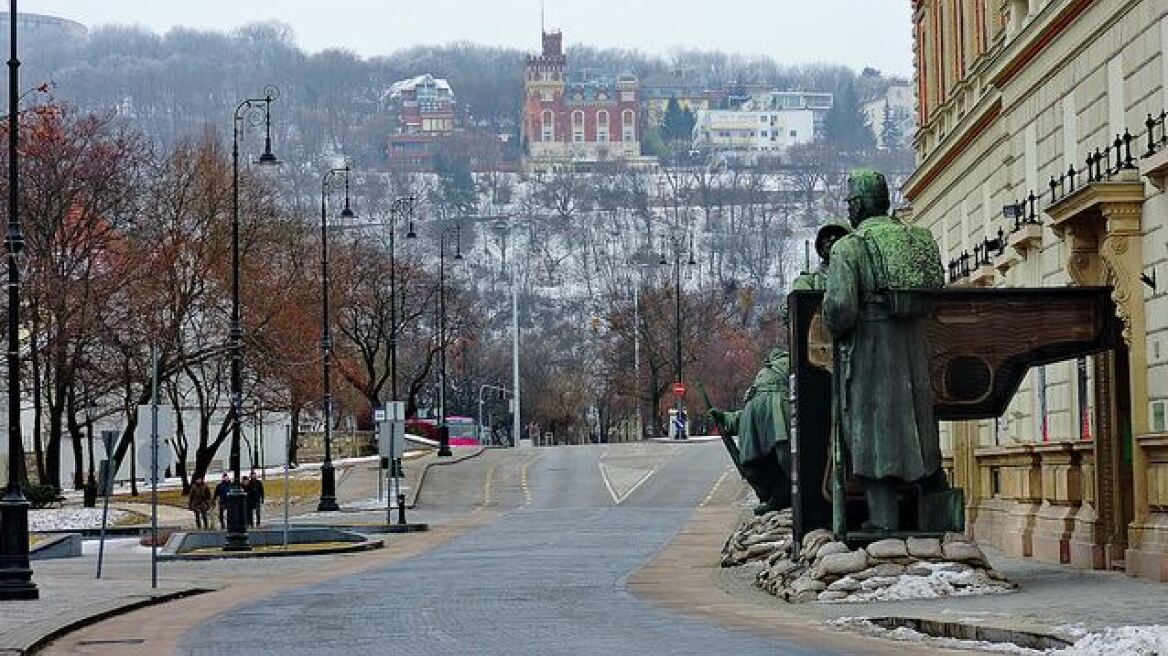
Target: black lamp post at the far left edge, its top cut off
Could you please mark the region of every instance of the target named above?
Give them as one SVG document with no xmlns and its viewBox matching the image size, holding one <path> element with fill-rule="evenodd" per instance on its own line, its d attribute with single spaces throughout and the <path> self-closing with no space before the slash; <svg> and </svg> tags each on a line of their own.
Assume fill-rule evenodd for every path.
<svg viewBox="0 0 1168 656">
<path fill-rule="evenodd" d="M 16 0 L 8 2 L 8 486 L 0 498 L 0 600 L 40 596 L 28 560 L 28 500 L 21 487 L 25 442 L 20 434 L 20 251 L 25 246 L 20 197 L 20 60 Z"/>
</svg>

